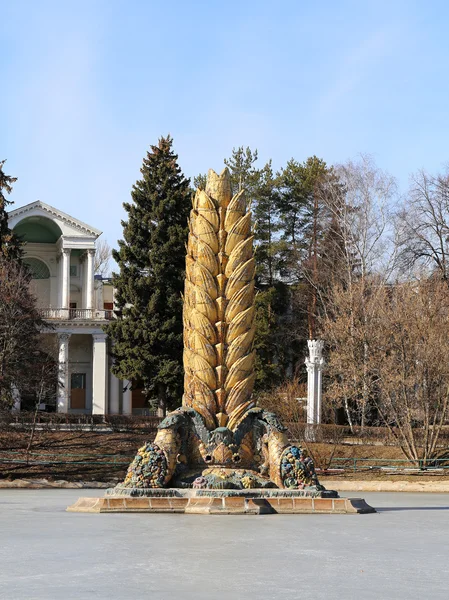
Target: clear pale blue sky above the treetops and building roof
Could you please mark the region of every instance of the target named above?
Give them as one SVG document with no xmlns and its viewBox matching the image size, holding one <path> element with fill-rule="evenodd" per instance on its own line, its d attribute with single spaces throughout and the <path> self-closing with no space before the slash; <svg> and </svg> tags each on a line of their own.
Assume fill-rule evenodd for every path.
<svg viewBox="0 0 449 600">
<path fill-rule="evenodd" d="M 121 237 L 142 158 L 193 177 L 235 146 L 275 168 L 372 154 L 405 190 L 449 160 L 449 3 L 0 0 L 0 159 L 40 199 Z"/>
</svg>

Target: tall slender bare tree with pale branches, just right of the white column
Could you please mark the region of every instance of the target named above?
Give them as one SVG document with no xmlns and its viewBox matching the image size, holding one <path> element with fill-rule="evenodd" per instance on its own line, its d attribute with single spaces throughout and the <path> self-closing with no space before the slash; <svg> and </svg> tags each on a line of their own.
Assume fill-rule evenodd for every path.
<svg viewBox="0 0 449 600">
<path fill-rule="evenodd" d="M 319 290 L 322 335 L 333 348 L 343 343 L 352 357 L 350 380 L 340 382 L 335 390 L 344 399 L 350 426 L 356 419 L 363 427 L 372 382 L 367 333 L 376 296 L 383 293 L 382 283 L 389 279 L 395 263 L 389 225 L 396 184 L 371 157 L 361 156 L 358 162 L 337 165 L 320 193 L 330 219 L 327 256 L 322 261 L 325 267 L 328 263 L 327 276 Z M 337 327 L 342 310 L 344 342 Z M 335 375 L 338 381 L 338 371 Z"/>
</svg>

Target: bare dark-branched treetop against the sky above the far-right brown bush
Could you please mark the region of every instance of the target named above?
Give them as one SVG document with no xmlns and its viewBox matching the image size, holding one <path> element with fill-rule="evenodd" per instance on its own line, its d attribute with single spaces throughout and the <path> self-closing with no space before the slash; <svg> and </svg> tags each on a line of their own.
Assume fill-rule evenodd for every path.
<svg viewBox="0 0 449 600">
<path fill-rule="evenodd" d="M 417 266 L 449 279 L 449 170 L 430 175 L 424 170 L 411 178 L 397 218 L 400 267 Z"/>
</svg>

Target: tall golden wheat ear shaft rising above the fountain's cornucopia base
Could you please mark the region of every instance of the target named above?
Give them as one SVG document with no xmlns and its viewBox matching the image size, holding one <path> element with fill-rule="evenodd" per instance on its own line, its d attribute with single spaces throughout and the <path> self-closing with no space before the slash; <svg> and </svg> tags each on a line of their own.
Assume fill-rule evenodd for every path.
<svg viewBox="0 0 449 600">
<path fill-rule="evenodd" d="M 245 193 L 211 169 L 190 213 L 183 316 L 183 405 L 208 429 L 235 429 L 254 405 L 254 274 Z"/>
</svg>

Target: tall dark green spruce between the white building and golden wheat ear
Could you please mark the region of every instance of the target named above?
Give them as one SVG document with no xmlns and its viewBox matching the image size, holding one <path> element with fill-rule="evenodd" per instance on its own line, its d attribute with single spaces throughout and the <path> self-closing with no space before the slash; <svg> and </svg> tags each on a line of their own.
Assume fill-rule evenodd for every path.
<svg viewBox="0 0 449 600">
<path fill-rule="evenodd" d="M 185 275 L 189 180 L 181 173 L 170 136 L 151 146 L 124 203 L 123 240 L 113 257 L 119 318 L 106 331 L 112 339 L 113 373 L 142 385 L 160 412 L 181 402 L 182 291 Z"/>
</svg>

